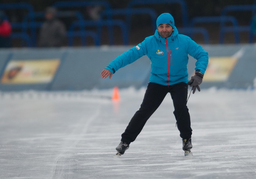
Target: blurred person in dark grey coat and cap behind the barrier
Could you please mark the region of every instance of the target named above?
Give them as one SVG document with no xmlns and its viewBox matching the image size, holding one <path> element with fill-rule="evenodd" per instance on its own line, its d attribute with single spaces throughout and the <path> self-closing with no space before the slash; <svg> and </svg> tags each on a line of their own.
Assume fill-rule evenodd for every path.
<svg viewBox="0 0 256 179">
<path fill-rule="evenodd" d="M 66 39 L 66 27 L 63 22 L 56 18 L 56 14 L 57 10 L 55 8 L 46 8 L 45 22 L 40 29 L 38 46 L 64 46 L 64 42 Z"/>
</svg>

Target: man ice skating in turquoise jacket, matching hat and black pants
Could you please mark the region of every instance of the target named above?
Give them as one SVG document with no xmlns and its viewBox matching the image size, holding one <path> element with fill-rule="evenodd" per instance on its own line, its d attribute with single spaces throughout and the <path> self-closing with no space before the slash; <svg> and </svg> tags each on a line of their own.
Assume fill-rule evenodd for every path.
<svg viewBox="0 0 256 179">
<path fill-rule="evenodd" d="M 133 63 L 138 58 L 147 55 L 151 60 L 151 76 L 140 109 L 133 115 L 130 123 L 121 135 L 121 142 L 116 147 L 117 155 L 122 155 L 131 142 L 141 132 L 149 117 L 164 100 L 167 93 L 171 94 L 174 105 L 174 116 L 180 137 L 182 149 L 186 153 L 192 148 L 190 115 L 187 108 L 188 84 L 193 94 L 200 88 L 204 72 L 208 64 L 208 53 L 190 37 L 178 33 L 171 14 L 163 13 L 156 20 L 157 29 L 153 36 L 116 57 L 102 72 L 101 78 L 109 78 L 121 67 Z M 188 81 L 188 54 L 194 57 L 195 75 Z"/>
</svg>

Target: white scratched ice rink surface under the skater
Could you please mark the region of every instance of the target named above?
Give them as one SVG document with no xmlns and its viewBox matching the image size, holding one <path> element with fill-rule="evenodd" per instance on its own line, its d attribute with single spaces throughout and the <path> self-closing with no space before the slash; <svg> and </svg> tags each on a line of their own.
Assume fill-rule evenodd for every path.
<svg viewBox="0 0 256 179">
<path fill-rule="evenodd" d="M 184 156 L 167 95 L 114 158 L 145 88 L 0 93 L 0 178 L 256 178 L 256 91 L 191 94 L 193 156 Z"/>
</svg>

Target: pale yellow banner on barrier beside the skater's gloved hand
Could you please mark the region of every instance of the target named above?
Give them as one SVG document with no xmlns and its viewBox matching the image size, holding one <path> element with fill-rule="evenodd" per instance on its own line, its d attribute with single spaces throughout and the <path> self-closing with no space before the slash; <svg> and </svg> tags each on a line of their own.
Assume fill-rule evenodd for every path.
<svg viewBox="0 0 256 179">
<path fill-rule="evenodd" d="M 236 61 L 236 57 L 209 57 L 203 81 L 226 81 Z"/>
</svg>

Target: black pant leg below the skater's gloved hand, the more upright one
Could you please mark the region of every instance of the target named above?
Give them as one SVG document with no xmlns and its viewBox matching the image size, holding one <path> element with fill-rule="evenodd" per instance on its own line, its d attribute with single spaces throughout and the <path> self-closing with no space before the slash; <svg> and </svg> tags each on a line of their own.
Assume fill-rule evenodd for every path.
<svg viewBox="0 0 256 179">
<path fill-rule="evenodd" d="M 187 108 L 187 84 L 178 83 L 172 85 L 170 93 L 174 106 L 174 116 L 177 121 L 177 128 L 182 139 L 189 139 L 192 135 L 190 127 L 190 115 Z"/>
</svg>

